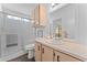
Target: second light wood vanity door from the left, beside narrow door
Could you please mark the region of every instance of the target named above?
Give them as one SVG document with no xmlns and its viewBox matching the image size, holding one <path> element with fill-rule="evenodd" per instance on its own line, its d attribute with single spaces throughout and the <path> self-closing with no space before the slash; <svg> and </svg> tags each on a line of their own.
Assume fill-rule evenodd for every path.
<svg viewBox="0 0 87 65">
<path fill-rule="evenodd" d="M 42 45 L 42 62 L 53 62 L 53 50 Z"/>
</svg>

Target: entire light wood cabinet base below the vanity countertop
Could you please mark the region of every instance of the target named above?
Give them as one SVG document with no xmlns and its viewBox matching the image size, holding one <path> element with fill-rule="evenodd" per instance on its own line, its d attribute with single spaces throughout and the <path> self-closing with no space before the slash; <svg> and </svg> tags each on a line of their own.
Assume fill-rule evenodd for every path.
<svg viewBox="0 0 87 65">
<path fill-rule="evenodd" d="M 35 43 L 35 61 L 36 62 L 81 62 L 72 55 L 62 53 L 52 47 Z"/>
</svg>

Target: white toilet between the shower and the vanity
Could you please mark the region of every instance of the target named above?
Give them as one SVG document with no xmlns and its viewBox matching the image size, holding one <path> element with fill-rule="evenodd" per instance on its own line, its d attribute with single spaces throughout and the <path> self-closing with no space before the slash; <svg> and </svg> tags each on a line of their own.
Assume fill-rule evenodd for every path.
<svg viewBox="0 0 87 65">
<path fill-rule="evenodd" d="M 34 44 L 25 45 L 25 51 L 28 52 L 29 59 L 34 57 Z"/>
</svg>

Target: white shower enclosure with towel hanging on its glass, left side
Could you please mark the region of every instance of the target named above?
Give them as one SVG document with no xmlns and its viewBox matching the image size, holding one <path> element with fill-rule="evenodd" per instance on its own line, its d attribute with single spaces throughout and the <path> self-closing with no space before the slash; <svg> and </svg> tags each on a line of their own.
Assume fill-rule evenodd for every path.
<svg viewBox="0 0 87 65">
<path fill-rule="evenodd" d="M 0 61 L 25 53 L 30 43 L 30 20 L 24 14 L 2 8 L 0 11 Z"/>
</svg>

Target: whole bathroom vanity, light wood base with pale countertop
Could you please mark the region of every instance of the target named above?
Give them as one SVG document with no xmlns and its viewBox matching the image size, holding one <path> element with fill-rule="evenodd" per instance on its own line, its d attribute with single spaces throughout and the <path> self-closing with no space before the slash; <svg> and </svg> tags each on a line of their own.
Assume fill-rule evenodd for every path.
<svg viewBox="0 0 87 65">
<path fill-rule="evenodd" d="M 36 62 L 85 62 L 87 46 L 69 39 L 54 40 L 39 37 L 35 40 Z"/>
</svg>

